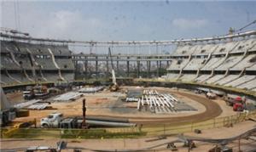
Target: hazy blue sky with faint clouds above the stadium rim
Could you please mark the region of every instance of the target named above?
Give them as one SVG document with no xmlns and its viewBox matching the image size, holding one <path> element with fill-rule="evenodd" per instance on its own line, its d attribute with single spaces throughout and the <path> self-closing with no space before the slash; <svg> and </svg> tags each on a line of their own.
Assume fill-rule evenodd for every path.
<svg viewBox="0 0 256 152">
<path fill-rule="evenodd" d="M 149 41 L 225 35 L 256 20 L 256 2 L 2 1 L 1 27 L 32 37 Z M 255 30 L 256 25 L 245 29 Z"/>
</svg>

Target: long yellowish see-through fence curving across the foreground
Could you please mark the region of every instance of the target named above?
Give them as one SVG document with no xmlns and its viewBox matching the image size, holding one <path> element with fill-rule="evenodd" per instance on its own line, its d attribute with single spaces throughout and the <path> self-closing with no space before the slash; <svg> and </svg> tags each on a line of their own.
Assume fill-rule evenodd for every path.
<svg viewBox="0 0 256 152">
<path fill-rule="evenodd" d="M 165 136 L 195 129 L 206 130 L 218 127 L 233 127 L 236 123 L 256 117 L 256 111 L 214 118 L 208 121 L 175 125 L 172 123 L 137 127 L 109 127 L 90 129 L 62 128 L 2 128 L 1 138 L 137 138 L 141 136 Z"/>
</svg>

